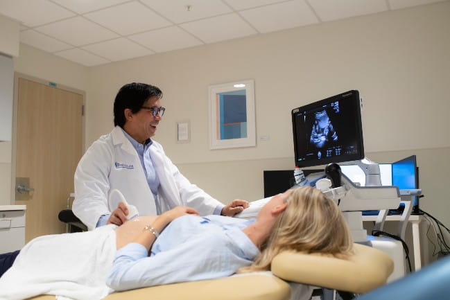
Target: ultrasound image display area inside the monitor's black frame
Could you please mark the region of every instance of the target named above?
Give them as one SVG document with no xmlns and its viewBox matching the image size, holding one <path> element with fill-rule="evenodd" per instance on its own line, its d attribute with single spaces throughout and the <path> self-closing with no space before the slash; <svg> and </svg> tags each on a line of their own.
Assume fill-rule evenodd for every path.
<svg viewBox="0 0 450 300">
<path fill-rule="evenodd" d="M 297 160 L 356 154 L 355 118 L 354 104 L 346 98 L 295 114 Z"/>
</svg>

